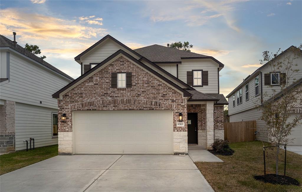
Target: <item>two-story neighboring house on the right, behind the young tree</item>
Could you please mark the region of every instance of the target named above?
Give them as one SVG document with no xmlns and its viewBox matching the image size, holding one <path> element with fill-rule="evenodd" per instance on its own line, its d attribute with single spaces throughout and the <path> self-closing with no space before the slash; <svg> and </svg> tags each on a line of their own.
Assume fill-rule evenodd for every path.
<svg viewBox="0 0 302 192">
<path fill-rule="evenodd" d="M 283 59 L 288 54 L 292 54 L 291 50 L 293 49 L 297 48 L 291 46 L 277 55 L 276 58 Z M 282 97 L 281 93 L 278 93 L 281 90 L 276 78 L 282 77 L 283 75 L 280 74 L 285 73 L 285 71 L 278 71 L 276 74 L 272 73 L 271 63 L 277 62 L 276 58 L 258 68 L 226 96 L 229 102 L 228 110 L 230 122 L 257 121 L 257 139 L 261 141 L 269 141 L 268 131 L 265 122 L 260 120 L 262 111 L 259 111 L 255 106 L 256 104 L 260 104 L 261 100 L 265 101 L 271 99 L 273 89 L 276 90 L 276 94 Z M 302 55 L 294 60 L 294 64 L 296 63 L 297 66 L 293 66 L 293 69 L 300 69 L 300 71 L 294 72 L 295 75 L 293 78 L 295 78 L 296 81 L 298 80 L 298 83 L 296 83 L 293 78 L 290 79 L 290 82 L 287 83 L 288 88 L 291 89 L 294 89 L 295 86 L 300 85 L 302 82 Z M 281 83 L 286 83 L 285 81 L 285 78 L 284 80 L 279 80 Z M 296 115 L 301 114 L 302 106 L 292 109 L 289 121 Z M 288 138 L 292 139 L 291 144 L 302 145 L 302 126 L 295 127 Z"/>
</svg>

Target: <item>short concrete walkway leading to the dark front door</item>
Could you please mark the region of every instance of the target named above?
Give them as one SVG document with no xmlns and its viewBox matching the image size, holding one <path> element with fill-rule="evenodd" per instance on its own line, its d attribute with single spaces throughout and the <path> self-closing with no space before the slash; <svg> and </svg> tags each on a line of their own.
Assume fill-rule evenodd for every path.
<svg viewBox="0 0 302 192">
<path fill-rule="evenodd" d="M 188 146 L 188 153 L 194 162 L 223 162 L 221 159 L 200 146 Z"/>
</svg>

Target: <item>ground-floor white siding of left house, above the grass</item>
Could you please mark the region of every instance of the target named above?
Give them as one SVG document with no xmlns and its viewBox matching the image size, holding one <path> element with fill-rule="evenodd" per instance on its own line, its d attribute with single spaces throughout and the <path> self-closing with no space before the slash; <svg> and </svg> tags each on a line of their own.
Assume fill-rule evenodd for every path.
<svg viewBox="0 0 302 192">
<path fill-rule="evenodd" d="M 34 138 L 35 147 L 58 144 L 52 138 L 52 112 L 56 109 L 16 103 L 16 151 L 26 149 L 26 142 Z"/>
</svg>

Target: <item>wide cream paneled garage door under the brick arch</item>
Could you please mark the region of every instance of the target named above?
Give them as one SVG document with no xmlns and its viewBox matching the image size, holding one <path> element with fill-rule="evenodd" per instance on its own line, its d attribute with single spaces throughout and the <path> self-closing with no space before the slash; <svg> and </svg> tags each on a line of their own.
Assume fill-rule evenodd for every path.
<svg viewBox="0 0 302 192">
<path fill-rule="evenodd" d="M 76 111 L 76 154 L 172 154 L 172 111 Z"/>
</svg>

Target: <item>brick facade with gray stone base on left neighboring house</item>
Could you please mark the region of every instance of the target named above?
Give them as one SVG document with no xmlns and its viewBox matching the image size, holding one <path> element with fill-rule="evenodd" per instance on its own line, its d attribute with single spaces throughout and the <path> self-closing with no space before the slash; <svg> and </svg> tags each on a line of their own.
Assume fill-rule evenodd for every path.
<svg viewBox="0 0 302 192">
<path fill-rule="evenodd" d="M 15 102 L 0 105 L 0 153 L 15 151 Z"/>
</svg>

